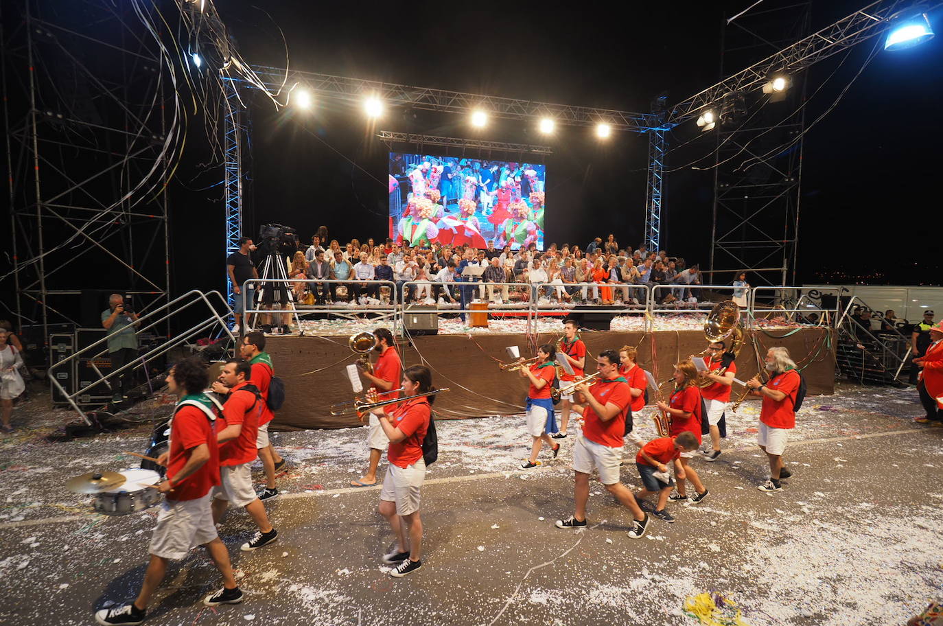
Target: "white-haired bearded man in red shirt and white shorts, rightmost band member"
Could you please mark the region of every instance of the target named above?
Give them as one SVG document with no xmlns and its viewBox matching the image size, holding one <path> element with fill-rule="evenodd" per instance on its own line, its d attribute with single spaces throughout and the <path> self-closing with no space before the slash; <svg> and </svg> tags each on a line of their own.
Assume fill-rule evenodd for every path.
<svg viewBox="0 0 943 626">
<path fill-rule="evenodd" d="M 754 396 L 763 399 L 760 409 L 760 431 L 756 442 L 769 458 L 769 480 L 756 488 L 760 491 L 778 491 L 783 486 L 780 480 L 791 476 L 783 467 L 786 451 L 786 436 L 796 427 L 796 395 L 802 377 L 796 364 L 789 358 L 786 348 L 774 347 L 767 351 L 766 369 L 769 382 L 761 383 L 759 374 L 747 381 Z"/>
</svg>

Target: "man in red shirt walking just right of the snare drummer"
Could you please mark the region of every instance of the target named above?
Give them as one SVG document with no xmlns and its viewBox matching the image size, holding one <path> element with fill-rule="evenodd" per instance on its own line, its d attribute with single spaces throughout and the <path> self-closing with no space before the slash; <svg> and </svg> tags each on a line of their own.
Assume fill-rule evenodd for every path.
<svg viewBox="0 0 943 626">
<path fill-rule="evenodd" d="M 213 391 L 226 396 L 223 420 L 216 427 L 220 485 L 213 487 L 213 522 L 223 519 L 230 502 L 246 510 L 256 522 L 258 532 L 242 544 L 242 552 L 252 552 L 278 539 L 278 531 L 269 522 L 265 505 L 252 487 L 252 464 L 258 456 L 258 416 L 263 401 L 258 388 L 250 382 L 251 375 L 252 366 L 247 361 L 231 358 L 223 366 L 220 379 L 213 382 Z"/>
</svg>

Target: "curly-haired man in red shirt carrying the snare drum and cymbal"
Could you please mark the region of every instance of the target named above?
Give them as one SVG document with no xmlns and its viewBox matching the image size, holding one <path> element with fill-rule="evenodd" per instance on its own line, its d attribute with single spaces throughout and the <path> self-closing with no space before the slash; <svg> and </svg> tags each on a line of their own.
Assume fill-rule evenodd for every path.
<svg viewBox="0 0 943 626">
<path fill-rule="evenodd" d="M 205 547 L 223 575 L 223 588 L 209 594 L 203 603 L 217 606 L 242 601 L 229 552 L 216 534 L 209 504 L 210 489 L 220 484 L 220 459 L 213 432 L 218 411 L 203 392 L 208 383 L 207 368 L 197 357 L 178 362 L 167 376 L 167 387 L 178 400 L 171 421 L 170 450 L 157 459 L 157 463 L 167 466 L 167 479 L 155 488 L 167 499 L 160 506 L 151 535 L 151 560 L 138 598 L 130 604 L 97 611 L 95 621 L 99 624 L 144 621 L 147 604 L 164 579 L 167 563 L 186 557 L 193 546 Z"/>
</svg>

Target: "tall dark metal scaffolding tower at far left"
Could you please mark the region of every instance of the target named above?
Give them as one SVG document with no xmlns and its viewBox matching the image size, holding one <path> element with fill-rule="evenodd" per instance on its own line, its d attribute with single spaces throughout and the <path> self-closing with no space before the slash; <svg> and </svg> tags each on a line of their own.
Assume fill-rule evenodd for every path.
<svg viewBox="0 0 943 626">
<path fill-rule="evenodd" d="M 134 294 L 139 311 L 167 302 L 157 41 L 123 3 L 23 0 L 3 18 L 13 254 L 2 278 L 19 322 L 79 323 L 86 289 Z"/>
</svg>

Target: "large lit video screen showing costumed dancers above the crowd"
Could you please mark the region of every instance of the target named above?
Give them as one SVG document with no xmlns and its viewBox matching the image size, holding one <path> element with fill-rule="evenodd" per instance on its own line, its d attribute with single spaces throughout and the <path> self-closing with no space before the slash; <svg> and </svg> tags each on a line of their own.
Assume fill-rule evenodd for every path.
<svg viewBox="0 0 943 626">
<path fill-rule="evenodd" d="M 543 250 L 547 168 L 539 163 L 389 154 L 389 237 Z"/>
</svg>

